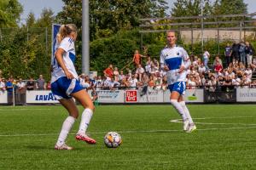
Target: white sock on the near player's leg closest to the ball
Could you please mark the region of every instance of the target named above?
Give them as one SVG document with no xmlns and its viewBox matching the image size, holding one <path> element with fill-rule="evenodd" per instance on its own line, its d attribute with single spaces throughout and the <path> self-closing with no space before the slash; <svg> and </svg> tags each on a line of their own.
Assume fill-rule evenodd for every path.
<svg viewBox="0 0 256 170">
<path fill-rule="evenodd" d="M 92 114 L 93 112 L 90 109 L 85 109 L 83 111 L 79 127 L 79 134 L 85 134 L 86 129 L 89 126 Z"/>
</svg>

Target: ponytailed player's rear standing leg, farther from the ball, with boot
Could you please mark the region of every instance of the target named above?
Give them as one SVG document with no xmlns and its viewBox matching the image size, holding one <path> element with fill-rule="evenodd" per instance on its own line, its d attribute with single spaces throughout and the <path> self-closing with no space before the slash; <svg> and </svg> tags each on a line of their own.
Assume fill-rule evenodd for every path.
<svg viewBox="0 0 256 170">
<path fill-rule="evenodd" d="M 79 116 L 79 110 L 73 99 L 60 99 L 59 101 L 61 105 L 67 109 L 69 116 L 67 116 L 66 120 L 62 124 L 61 133 L 59 134 L 59 138 L 55 144 L 55 150 L 73 150 L 72 147 L 65 144 L 65 140 L 67 139 L 67 134 L 73 127 L 75 120 Z"/>
</svg>

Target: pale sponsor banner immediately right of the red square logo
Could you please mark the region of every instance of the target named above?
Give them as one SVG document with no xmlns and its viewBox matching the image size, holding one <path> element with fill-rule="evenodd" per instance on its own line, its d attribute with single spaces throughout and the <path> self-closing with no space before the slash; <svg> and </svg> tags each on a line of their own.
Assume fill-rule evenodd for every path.
<svg viewBox="0 0 256 170">
<path fill-rule="evenodd" d="M 141 96 L 137 94 L 139 103 L 162 103 L 163 102 L 163 91 L 162 90 L 150 90 L 147 94 Z"/>
</svg>

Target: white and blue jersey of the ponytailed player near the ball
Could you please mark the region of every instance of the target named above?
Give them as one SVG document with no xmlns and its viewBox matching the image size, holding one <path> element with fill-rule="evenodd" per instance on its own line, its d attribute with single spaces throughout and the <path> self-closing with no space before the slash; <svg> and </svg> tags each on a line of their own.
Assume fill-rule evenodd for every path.
<svg viewBox="0 0 256 170">
<path fill-rule="evenodd" d="M 79 79 L 78 73 L 74 67 L 76 54 L 73 39 L 71 37 L 65 37 L 60 44 L 56 43 L 55 48 L 62 48 L 65 51 L 63 54 L 63 62 L 66 65 L 67 70 L 73 74 L 73 77 L 75 79 Z M 66 77 L 61 65 L 59 65 L 57 59 L 55 59 L 55 55 L 52 56 L 51 62 L 53 67 L 53 71 L 51 73 L 51 83 L 55 82 L 60 77 Z"/>
</svg>

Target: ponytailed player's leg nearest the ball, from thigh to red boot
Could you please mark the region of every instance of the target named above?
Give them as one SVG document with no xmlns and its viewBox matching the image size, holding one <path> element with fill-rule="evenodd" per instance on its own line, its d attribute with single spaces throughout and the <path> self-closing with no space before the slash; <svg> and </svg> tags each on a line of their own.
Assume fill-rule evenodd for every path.
<svg viewBox="0 0 256 170">
<path fill-rule="evenodd" d="M 79 132 L 76 135 L 76 139 L 83 140 L 89 144 L 96 144 L 95 139 L 91 139 L 89 136 L 86 135 L 86 130 L 90 124 L 90 119 L 93 115 L 93 111 L 95 108 L 93 102 L 91 101 L 89 94 L 87 94 L 84 89 L 73 93 L 72 96 L 75 99 L 78 99 L 80 104 L 84 107 L 84 111 L 81 116 Z"/>
</svg>

